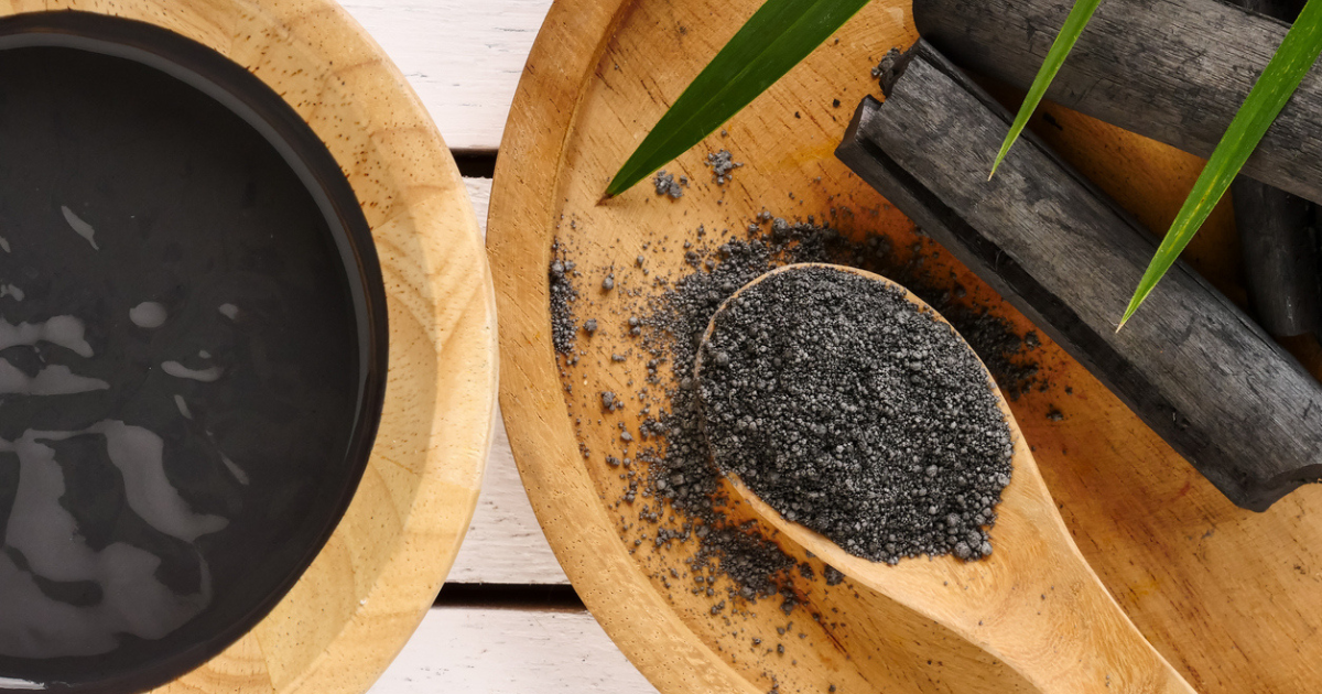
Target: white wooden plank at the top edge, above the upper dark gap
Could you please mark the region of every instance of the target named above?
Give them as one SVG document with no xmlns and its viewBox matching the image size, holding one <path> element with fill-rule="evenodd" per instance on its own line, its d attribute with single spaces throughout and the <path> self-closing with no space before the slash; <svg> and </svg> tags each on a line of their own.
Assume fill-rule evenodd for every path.
<svg viewBox="0 0 1322 694">
<path fill-rule="evenodd" d="M 422 96 L 452 149 L 500 147 L 551 0 L 341 0 Z"/>
</svg>

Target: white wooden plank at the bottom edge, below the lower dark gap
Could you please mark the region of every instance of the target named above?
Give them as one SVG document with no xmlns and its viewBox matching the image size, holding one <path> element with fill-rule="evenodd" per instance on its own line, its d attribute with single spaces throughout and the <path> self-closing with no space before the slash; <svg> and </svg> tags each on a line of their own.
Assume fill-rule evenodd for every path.
<svg viewBox="0 0 1322 694">
<path fill-rule="evenodd" d="M 435 608 L 371 694 L 656 694 L 587 612 Z"/>
</svg>

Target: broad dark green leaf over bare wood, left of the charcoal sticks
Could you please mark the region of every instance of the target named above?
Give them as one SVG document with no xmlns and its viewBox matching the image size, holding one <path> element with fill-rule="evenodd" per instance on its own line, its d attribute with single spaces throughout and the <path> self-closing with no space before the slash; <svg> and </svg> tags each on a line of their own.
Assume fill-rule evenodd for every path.
<svg viewBox="0 0 1322 694">
<path fill-rule="evenodd" d="M 767 0 L 624 163 L 607 197 L 682 155 L 808 57 L 867 0 Z"/>
</svg>

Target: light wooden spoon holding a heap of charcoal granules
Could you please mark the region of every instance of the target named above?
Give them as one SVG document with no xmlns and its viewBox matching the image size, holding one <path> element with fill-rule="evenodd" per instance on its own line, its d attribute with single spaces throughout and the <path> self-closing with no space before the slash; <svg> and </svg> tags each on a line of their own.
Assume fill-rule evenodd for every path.
<svg viewBox="0 0 1322 694">
<path fill-rule="evenodd" d="M 820 263 L 773 270 L 743 286 L 730 299 L 771 275 L 804 267 L 826 267 L 890 284 L 904 291 L 904 296 L 921 312 L 947 323 L 921 299 L 886 278 Z M 713 315 L 703 342 L 711 338 L 717 317 L 730 305 L 730 299 Z M 703 352 L 698 350 L 695 364 L 699 382 Z M 985 365 L 982 367 L 986 370 Z M 990 374 L 988 379 L 992 381 Z M 978 645 L 1014 668 L 1043 694 L 1192 693 L 1194 689 L 1129 621 L 1079 553 L 1010 407 L 999 389 L 994 391 L 1014 440 L 1014 473 L 997 506 L 995 526 L 990 530 L 994 551 L 981 560 L 964 562 L 949 555 L 902 559 L 895 566 L 887 566 L 863 559 L 784 520 L 738 476 L 727 473 L 727 477 L 771 527 L 855 583 L 931 617 Z M 720 465 L 719 460 L 717 465 Z"/>
</svg>

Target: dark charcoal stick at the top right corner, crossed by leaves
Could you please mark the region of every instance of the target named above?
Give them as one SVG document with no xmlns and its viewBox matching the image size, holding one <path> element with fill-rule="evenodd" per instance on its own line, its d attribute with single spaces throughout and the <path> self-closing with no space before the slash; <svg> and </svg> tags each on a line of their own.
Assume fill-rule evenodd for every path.
<svg viewBox="0 0 1322 694">
<path fill-rule="evenodd" d="M 1069 4 L 917 0 L 921 34 L 957 63 L 1027 89 Z M 1047 99 L 1210 156 L 1289 28 L 1219 0 L 1103 3 Z M 1244 173 L 1322 201 L 1322 73 L 1311 71 Z"/>
</svg>

